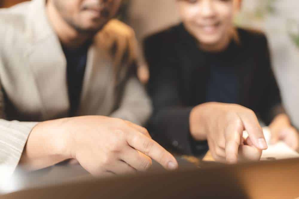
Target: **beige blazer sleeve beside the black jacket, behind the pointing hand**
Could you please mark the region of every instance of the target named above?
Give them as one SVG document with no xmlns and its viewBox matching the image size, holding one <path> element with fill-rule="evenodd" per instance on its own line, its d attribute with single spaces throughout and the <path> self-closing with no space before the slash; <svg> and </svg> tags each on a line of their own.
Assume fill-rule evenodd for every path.
<svg viewBox="0 0 299 199">
<path fill-rule="evenodd" d="M 130 67 L 122 90 L 119 97 L 120 105 L 110 117 L 144 125 L 152 114 L 152 103 L 144 86 L 137 78 L 135 64 Z"/>
</svg>

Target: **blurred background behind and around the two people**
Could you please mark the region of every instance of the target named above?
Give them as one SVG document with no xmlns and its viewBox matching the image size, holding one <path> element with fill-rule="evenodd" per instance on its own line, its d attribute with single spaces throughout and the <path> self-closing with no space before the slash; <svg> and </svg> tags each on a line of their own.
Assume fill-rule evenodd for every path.
<svg viewBox="0 0 299 199">
<path fill-rule="evenodd" d="M 0 0 L 10 7 L 24 0 Z M 274 73 L 284 106 L 299 128 L 299 1 L 243 0 L 236 24 L 263 30 L 268 37 Z M 175 0 L 124 0 L 119 19 L 132 26 L 138 40 L 180 21 Z M 141 46 L 142 48 L 142 46 Z M 146 75 L 146 74 L 145 74 Z"/>
</svg>

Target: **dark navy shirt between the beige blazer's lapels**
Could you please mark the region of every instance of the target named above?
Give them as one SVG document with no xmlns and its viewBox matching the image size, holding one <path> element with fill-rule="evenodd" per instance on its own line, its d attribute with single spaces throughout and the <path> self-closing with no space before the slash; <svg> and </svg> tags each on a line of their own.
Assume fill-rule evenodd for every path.
<svg viewBox="0 0 299 199">
<path fill-rule="evenodd" d="M 73 117 L 80 105 L 81 91 L 85 74 L 87 52 L 91 42 L 86 42 L 81 48 L 68 49 L 62 47 L 67 62 L 67 85 L 70 102 L 69 116 Z"/>
</svg>

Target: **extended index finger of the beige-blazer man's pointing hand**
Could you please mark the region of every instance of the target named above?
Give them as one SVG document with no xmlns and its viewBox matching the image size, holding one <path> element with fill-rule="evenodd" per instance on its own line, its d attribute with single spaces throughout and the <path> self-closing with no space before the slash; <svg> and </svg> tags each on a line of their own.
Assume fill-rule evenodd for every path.
<svg viewBox="0 0 299 199">
<path fill-rule="evenodd" d="M 165 169 L 178 168 L 178 163 L 173 155 L 146 135 L 130 131 L 127 142 L 131 147 L 156 160 Z"/>
</svg>

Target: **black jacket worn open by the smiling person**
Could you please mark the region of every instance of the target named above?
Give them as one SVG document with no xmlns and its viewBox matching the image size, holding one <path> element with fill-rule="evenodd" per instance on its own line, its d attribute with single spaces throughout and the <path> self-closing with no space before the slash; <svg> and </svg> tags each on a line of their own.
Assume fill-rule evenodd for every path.
<svg viewBox="0 0 299 199">
<path fill-rule="evenodd" d="M 267 39 L 263 33 L 237 31 L 239 43 L 223 62 L 236 67 L 241 84 L 239 104 L 252 109 L 268 125 L 283 108 Z M 181 154 L 201 155 L 208 150 L 207 142 L 196 142 L 189 131 L 190 111 L 205 102 L 210 73 L 206 54 L 197 43 L 182 24 L 144 41 L 150 71 L 148 92 L 154 105 L 148 129 L 158 143 Z"/>
</svg>

